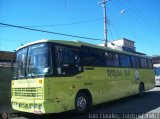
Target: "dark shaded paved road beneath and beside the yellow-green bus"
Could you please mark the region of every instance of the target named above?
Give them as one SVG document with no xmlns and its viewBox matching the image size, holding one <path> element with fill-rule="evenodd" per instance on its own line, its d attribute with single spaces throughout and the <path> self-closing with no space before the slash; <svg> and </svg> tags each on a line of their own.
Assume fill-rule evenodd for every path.
<svg viewBox="0 0 160 119">
<path fill-rule="evenodd" d="M 43 116 L 14 113 L 11 114 L 11 117 L 15 117 L 15 119 L 157 119 L 160 118 L 160 87 L 148 91 L 143 97 L 131 96 L 94 106 L 89 113 L 83 115 L 78 115 L 70 111 Z"/>
</svg>

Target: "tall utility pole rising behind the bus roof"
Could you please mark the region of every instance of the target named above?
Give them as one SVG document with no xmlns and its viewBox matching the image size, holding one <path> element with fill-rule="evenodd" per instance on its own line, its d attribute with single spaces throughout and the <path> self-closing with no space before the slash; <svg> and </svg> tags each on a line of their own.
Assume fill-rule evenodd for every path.
<svg viewBox="0 0 160 119">
<path fill-rule="evenodd" d="M 106 16 L 106 2 L 107 0 L 103 0 L 98 4 L 103 7 L 103 15 L 104 15 L 104 46 L 107 47 L 107 16 Z"/>
</svg>

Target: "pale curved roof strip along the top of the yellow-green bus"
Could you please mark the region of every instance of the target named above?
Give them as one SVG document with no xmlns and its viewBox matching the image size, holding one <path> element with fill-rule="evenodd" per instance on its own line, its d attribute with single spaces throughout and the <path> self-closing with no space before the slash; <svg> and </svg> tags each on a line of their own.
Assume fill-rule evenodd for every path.
<svg viewBox="0 0 160 119">
<path fill-rule="evenodd" d="M 66 40 L 48 40 L 48 39 L 42 39 L 42 40 L 38 40 L 35 42 L 31 42 L 28 44 L 25 44 L 23 46 L 21 46 L 20 48 L 18 48 L 16 51 L 33 45 L 33 44 L 37 44 L 37 43 L 45 43 L 45 42 L 53 42 L 53 43 L 58 43 L 58 44 L 64 44 L 64 45 L 71 45 L 71 46 L 76 46 L 76 47 L 81 47 L 81 46 L 88 46 L 88 47 L 92 47 L 92 48 L 97 48 L 97 49 L 101 49 L 101 50 L 108 50 L 108 51 L 113 51 L 113 52 L 118 52 L 118 53 L 123 53 L 123 54 L 128 54 L 128 55 L 134 55 L 134 56 L 139 56 L 139 57 L 144 57 L 144 58 L 150 58 L 149 56 L 145 56 L 145 55 L 140 55 L 140 54 L 136 54 L 136 53 L 131 53 L 131 52 L 126 52 L 126 51 L 120 51 L 120 50 L 116 50 L 116 49 L 111 49 L 111 48 L 106 48 L 104 46 L 98 46 L 95 44 L 91 44 L 91 43 L 87 43 L 87 42 L 82 42 L 82 41 L 78 41 L 78 40 L 74 40 L 74 41 L 66 41 Z"/>
</svg>

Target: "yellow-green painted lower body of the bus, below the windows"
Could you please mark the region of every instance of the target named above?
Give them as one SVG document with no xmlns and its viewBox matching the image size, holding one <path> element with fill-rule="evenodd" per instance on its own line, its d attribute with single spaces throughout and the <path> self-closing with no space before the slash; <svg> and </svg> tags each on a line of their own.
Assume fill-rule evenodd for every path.
<svg viewBox="0 0 160 119">
<path fill-rule="evenodd" d="M 13 109 L 31 113 L 59 113 L 75 109 L 75 97 L 80 90 L 91 93 L 93 105 L 139 92 L 140 82 L 135 80 L 135 69 L 84 67 L 86 68 L 91 70 L 73 77 L 13 80 Z M 120 71 L 121 76 L 108 74 L 107 71 Z M 128 76 L 125 72 L 129 72 Z M 139 73 L 145 90 L 153 88 L 154 71 L 139 69 Z"/>
</svg>

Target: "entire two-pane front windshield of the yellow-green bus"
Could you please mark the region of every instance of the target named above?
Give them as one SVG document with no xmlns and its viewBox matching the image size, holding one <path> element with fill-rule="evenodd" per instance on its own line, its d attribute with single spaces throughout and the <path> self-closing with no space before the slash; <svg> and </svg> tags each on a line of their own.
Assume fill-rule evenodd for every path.
<svg viewBox="0 0 160 119">
<path fill-rule="evenodd" d="M 27 52 L 28 51 L 28 52 Z M 15 77 L 32 77 L 52 73 L 48 44 L 35 44 L 17 52 Z"/>
</svg>

